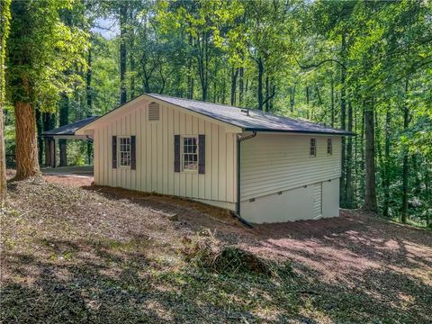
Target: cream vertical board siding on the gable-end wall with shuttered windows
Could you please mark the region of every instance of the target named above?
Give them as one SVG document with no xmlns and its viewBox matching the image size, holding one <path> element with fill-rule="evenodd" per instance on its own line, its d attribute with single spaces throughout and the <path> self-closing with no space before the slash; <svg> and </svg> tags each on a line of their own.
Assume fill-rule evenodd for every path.
<svg viewBox="0 0 432 324">
<path fill-rule="evenodd" d="M 202 201 L 236 202 L 236 134 L 181 109 L 160 105 L 160 121 L 148 121 L 148 103 L 94 130 L 94 183 Z M 206 135 L 205 174 L 174 172 L 174 135 Z M 137 169 L 112 168 L 112 136 L 137 137 Z"/>
</svg>

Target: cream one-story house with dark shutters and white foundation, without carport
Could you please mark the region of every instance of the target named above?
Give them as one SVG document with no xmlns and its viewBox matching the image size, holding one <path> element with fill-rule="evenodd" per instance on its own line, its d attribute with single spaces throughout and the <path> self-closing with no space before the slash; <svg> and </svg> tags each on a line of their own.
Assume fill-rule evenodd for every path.
<svg viewBox="0 0 432 324">
<path fill-rule="evenodd" d="M 351 133 L 142 94 L 76 135 L 94 139 L 94 184 L 187 197 L 264 223 L 338 216 L 341 139 Z"/>
</svg>

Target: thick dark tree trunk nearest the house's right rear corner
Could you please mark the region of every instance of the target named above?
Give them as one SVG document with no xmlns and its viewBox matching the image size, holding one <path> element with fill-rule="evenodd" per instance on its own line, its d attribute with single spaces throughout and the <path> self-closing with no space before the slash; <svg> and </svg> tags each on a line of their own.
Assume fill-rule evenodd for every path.
<svg viewBox="0 0 432 324">
<path fill-rule="evenodd" d="M 375 193 L 374 103 L 365 101 L 365 211 L 377 211 Z"/>
</svg>

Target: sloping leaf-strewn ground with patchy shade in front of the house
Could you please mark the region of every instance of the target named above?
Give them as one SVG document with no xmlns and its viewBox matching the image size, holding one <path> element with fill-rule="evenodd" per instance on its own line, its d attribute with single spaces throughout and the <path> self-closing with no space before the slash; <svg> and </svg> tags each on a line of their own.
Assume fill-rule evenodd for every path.
<svg viewBox="0 0 432 324">
<path fill-rule="evenodd" d="M 2 322 L 432 322 L 431 232 L 356 211 L 245 229 L 199 203 L 47 179 L 9 184 Z M 186 261 L 184 242 L 209 236 L 290 267 Z"/>
</svg>

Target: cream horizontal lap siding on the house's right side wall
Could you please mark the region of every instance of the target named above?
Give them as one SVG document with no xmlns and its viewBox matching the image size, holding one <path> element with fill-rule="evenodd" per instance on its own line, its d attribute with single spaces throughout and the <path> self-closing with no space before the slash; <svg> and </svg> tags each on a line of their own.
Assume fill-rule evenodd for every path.
<svg viewBox="0 0 432 324">
<path fill-rule="evenodd" d="M 317 139 L 317 156 L 310 157 L 310 139 Z M 262 134 L 241 143 L 241 201 L 278 193 L 340 176 L 340 137 Z"/>
</svg>

